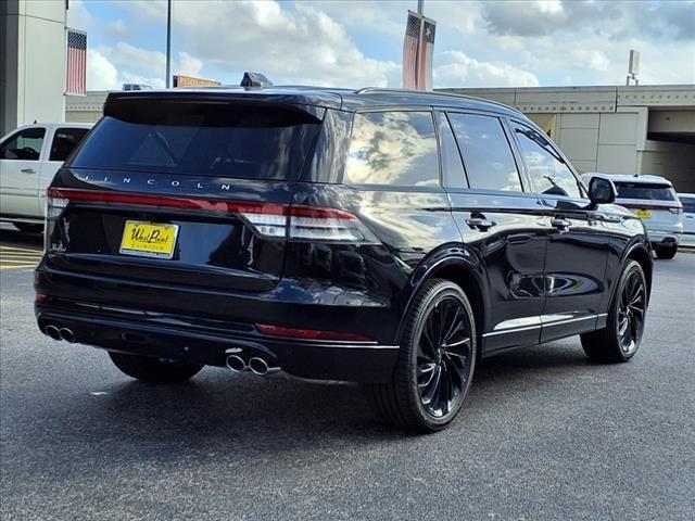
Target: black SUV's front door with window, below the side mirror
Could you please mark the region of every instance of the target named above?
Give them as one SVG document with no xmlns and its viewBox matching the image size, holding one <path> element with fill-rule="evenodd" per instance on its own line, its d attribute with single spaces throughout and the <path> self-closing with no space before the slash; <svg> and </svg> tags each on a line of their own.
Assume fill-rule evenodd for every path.
<svg viewBox="0 0 695 521">
<path fill-rule="evenodd" d="M 509 122 L 527 176 L 546 209 L 542 342 L 593 329 L 606 291 L 610 227 L 589 211 L 568 161 L 538 129 Z"/>
</svg>

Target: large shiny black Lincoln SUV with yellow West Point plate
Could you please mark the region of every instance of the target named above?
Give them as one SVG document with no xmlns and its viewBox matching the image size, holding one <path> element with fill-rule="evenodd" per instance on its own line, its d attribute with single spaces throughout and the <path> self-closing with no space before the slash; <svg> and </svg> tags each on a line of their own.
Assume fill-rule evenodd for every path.
<svg viewBox="0 0 695 521">
<path fill-rule="evenodd" d="M 438 430 L 477 360 L 581 334 L 636 352 L 645 230 L 539 127 L 444 93 L 111 93 L 49 188 L 36 315 L 126 374 L 204 365 L 366 384 Z"/>
</svg>

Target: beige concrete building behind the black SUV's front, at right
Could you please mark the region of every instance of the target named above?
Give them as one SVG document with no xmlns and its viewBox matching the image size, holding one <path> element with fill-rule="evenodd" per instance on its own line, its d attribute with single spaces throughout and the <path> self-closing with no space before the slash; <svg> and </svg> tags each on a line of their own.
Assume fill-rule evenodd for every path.
<svg viewBox="0 0 695 521">
<path fill-rule="evenodd" d="M 652 174 L 695 192 L 695 86 L 443 89 L 523 112 L 580 171 Z"/>
</svg>

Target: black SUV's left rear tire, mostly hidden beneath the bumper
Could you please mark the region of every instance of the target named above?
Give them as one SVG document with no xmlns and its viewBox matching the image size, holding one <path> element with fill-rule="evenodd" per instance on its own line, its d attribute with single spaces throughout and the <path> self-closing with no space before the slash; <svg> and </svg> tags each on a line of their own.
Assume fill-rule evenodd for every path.
<svg viewBox="0 0 695 521">
<path fill-rule="evenodd" d="M 109 352 L 111 360 L 122 372 L 150 383 L 179 383 L 189 380 L 203 366 L 187 361 L 164 361 L 149 356 Z"/>
</svg>

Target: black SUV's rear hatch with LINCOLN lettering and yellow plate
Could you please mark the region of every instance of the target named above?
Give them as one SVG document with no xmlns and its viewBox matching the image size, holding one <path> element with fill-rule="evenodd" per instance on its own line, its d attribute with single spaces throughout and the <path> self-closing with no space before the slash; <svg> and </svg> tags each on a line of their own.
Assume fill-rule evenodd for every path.
<svg viewBox="0 0 695 521">
<path fill-rule="evenodd" d="M 110 98 L 49 189 L 49 266 L 267 291 L 323 109 L 205 97 Z"/>
</svg>

